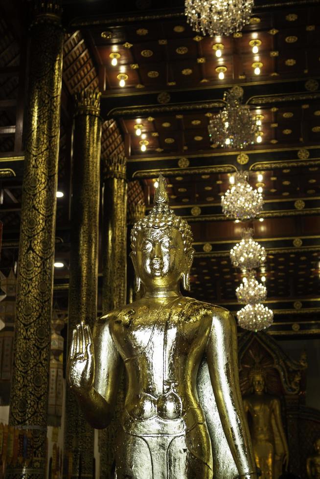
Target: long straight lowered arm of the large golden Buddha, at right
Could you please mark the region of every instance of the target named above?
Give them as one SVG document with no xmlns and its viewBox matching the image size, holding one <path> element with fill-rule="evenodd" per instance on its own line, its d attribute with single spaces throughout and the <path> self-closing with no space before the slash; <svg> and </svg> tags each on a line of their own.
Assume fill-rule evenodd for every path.
<svg viewBox="0 0 320 479">
<path fill-rule="evenodd" d="M 207 362 L 222 426 L 241 478 L 256 478 L 251 440 L 242 404 L 233 316 L 213 311 Z"/>
</svg>

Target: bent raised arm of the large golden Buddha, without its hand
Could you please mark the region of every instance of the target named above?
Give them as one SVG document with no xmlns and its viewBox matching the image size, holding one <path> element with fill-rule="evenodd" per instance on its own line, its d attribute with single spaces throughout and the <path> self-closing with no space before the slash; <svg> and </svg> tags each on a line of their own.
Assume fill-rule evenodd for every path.
<svg viewBox="0 0 320 479">
<path fill-rule="evenodd" d="M 93 329 L 94 377 L 90 388 L 72 388 L 87 421 L 95 429 L 110 423 L 121 377 L 122 360 L 111 337 L 108 320 Z"/>
</svg>

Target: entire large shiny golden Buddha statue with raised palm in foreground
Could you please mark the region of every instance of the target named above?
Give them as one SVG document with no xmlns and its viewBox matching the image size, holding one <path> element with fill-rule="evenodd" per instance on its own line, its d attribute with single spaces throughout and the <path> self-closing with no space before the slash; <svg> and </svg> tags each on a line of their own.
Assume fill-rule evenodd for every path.
<svg viewBox="0 0 320 479">
<path fill-rule="evenodd" d="M 134 225 L 131 247 L 143 296 L 98 319 L 92 336 L 77 325 L 68 361 L 70 388 L 98 429 L 111 420 L 125 368 L 115 477 L 256 478 L 235 321 L 226 309 L 181 294 L 181 280 L 189 289 L 192 233 L 169 208 L 161 174 L 155 205 Z"/>
</svg>

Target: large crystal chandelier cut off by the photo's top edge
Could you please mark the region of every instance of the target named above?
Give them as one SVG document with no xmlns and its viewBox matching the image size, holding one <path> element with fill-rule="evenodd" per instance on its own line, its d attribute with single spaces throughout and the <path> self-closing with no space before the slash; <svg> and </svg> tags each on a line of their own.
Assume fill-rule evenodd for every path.
<svg viewBox="0 0 320 479">
<path fill-rule="evenodd" d="M 187 22 L 211 37 L 242 30 L 251 17 L 253 0 L 185 0 Z"/>
</svg>

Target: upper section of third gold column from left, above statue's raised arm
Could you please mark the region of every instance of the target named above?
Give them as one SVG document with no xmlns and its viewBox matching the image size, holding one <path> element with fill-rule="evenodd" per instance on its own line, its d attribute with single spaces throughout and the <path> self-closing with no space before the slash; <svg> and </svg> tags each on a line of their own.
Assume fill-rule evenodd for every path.
<svg viewBox="0 0 320 479">
<path fill-rule="evenodd" d="M 104 164 L 102 231 L 102 312 L 126 302 L 127 273 L 126 158 L 114 156 Z"/>
</svg>

